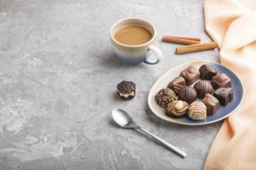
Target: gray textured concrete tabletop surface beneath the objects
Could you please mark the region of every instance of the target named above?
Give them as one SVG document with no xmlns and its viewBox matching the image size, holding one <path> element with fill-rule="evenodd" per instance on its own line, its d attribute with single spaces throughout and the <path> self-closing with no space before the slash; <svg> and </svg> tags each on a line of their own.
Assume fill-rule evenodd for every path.
<svg viewBox="0 0 256 170">
<path fill-rule="evenodd" d="M 154 82 L 178 64 L 219 61 L 218 50 L 175 55 L 161 36 L 211 39 L 202 0 L 1 0 L 0 169 L 202 169 L 221 122 L 192 127 L 156 117 L 147 105 Z M 127 17 L 150 20 L 164 59 L 154 66 L 117 60 L 109 29 Z M 124 101 L 116 84 L 132 80 Z M 114 124 L 130 112 L 142 127 L 188 152 L 180 158 L 139 131 Z"/>
</svg>

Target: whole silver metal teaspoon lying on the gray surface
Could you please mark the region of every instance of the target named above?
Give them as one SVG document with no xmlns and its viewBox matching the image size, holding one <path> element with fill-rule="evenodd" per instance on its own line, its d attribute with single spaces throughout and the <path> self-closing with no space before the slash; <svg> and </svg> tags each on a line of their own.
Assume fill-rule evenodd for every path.
<svg viewBox="0 0 256 170">
<path fill-rule="evenodd" d="M 158 138 L 156 135 L 150 133 L 149 131 L 146 131 L 143 128 L 140 128 L 140 126 L 138 126 L 137 124 L 134 123 L 132 117 L 130 117 L 130 115 L 127 114 L 125 110 L 118 109 L 118 108 L 112 110 L 112 117 L 113 117 L 114 121 L 116 121 L 116 123 L 119 124 L 121 127 L 131 128 L 131 129 L 139 129 L 140 131 L 143 131 L 145 134 L 148 134 L 152 138 L 161 142 L 161 144 L 163 144 L 165 147 L 169 148 L 171 151 L 174 151 L 176 154 L 178 154 L 182 158 L 185 158 L 185 156 L 187 155 L 184 151 L 169 144 L 167 141 L 164 141 L 163 139 Z"/>
</svg>

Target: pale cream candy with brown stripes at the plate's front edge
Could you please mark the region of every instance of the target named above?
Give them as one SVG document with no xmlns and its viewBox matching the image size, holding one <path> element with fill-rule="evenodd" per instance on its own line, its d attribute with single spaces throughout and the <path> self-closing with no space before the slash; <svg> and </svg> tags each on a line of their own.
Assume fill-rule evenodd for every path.
<svg viewBox="0 0 256 170">
<path fill-rule="evenodd" d="M 202 101 L 194 101 L 189 105 L 189 118 L 194 121 L 202 121 L 206 119 L 206 105 Z"/>
</svg>

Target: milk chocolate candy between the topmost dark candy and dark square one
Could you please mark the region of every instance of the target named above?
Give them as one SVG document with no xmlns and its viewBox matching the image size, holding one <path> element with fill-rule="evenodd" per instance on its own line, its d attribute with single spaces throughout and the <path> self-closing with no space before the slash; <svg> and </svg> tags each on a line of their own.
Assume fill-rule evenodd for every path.
<svg viewBox="0 0 256 170">
<path fill-rule="evenodd" d="M 230 77 L 228 77 L 225 73 L 220 73 L 213 76 L 211 84 L 213 85 L 214 89 L 219 87 L 231 87 L 231 80 Z"/>
</svg>

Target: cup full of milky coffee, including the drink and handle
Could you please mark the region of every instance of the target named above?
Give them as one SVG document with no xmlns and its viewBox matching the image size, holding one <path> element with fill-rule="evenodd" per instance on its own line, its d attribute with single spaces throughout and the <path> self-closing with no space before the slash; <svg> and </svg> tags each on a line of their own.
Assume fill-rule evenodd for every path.
<svg viewBox="0 0 256 170">
<path fill-rule="evenodd" d="M 156 29 L 147 20 L 130 18 L 116 22 L 110 30 L 110 40 L 116 58 L 125 63 L 156 64 L 161 59 L 161 50 L 153 46 Z M 147 51 L 156 53 L 157 59 L 148 59 Z"/>
</svg>

